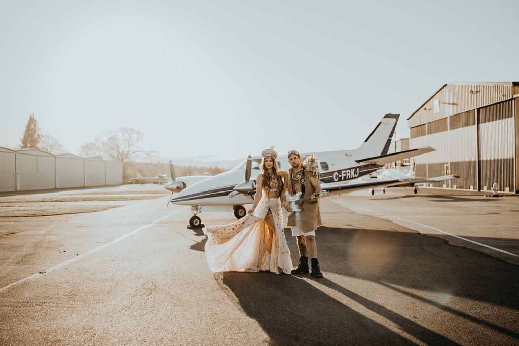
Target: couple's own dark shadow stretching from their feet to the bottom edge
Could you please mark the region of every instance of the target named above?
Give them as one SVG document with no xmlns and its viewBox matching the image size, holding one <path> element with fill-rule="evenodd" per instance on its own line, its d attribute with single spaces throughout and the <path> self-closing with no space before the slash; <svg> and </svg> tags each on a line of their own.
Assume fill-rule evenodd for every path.
<svg viewBox="0 0 519 346">
<path fill-rule="evenodd" d="M 239 308 L 262 326 L 274 344 L 414 344 L 322 289 L 334 290 L 356 305 L 384 316 L 424 343 L 452 343 L 326 278 L 223 272 L 215 273 L 215 279 L 222 287 L 228 287 L 236 297 L 229 297 L 230 300 L 237 299 Z"/>
</svg>

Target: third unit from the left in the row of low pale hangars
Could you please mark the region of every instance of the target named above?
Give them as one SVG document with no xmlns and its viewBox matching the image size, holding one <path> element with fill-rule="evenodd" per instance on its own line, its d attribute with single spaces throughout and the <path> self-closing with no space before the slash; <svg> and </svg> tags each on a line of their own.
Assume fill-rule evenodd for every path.
<svg viewBox="0 0 519 346">
<path fill-rule="evenodd" d="M 83 158 L 73 154 L 56 155 L 56 188 L 83 186 L 85 186 Z"/>
</svg>

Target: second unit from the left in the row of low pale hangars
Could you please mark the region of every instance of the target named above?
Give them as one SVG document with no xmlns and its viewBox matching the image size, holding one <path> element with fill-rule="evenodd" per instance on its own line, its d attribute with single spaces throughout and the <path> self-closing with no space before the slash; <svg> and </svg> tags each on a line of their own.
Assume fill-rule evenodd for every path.
<svg viewBox="0 0 519 346">
<path fill-rule="evenodd" d="M 38 149 L 16 150 L 16 190 L 56 188 L 56 158 Z"/>
</svg>

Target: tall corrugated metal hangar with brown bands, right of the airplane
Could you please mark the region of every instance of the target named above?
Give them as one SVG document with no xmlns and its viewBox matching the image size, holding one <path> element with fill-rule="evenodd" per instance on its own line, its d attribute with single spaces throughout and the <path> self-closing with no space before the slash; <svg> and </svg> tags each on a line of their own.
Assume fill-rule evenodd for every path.
<svg viewBox="0 0 519 346">
<path fill-rule="evenodd" d="M 407 118 L 410 147 L 431 146 L 416 158 L 416 175 L 459 174 L 436 187 L 519 192 L 519 82 L 443 85 Z"/>
</svg>

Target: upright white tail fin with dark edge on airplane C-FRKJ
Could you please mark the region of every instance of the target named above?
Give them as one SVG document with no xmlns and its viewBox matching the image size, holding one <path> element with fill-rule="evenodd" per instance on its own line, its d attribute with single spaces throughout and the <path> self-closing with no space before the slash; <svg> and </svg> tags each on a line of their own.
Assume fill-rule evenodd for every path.
<svg viewBox="0 0 519 346">
<path fill-rule="evenodd" d="M 356 157 L 374 157 L 386 155 L 397 128 L 400 114 L 386 114 L 366 140 L 356 150 Z"/>
</svg>

